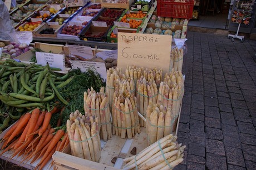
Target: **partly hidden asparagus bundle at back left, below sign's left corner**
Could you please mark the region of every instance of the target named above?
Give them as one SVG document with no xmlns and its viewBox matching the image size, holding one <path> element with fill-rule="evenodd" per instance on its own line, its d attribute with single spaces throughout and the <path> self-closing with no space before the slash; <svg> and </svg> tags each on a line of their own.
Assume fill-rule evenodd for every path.
<svg viewBox="0 0 256 170">
<path fill-rule="evenodd" d="M 113 94 L 115 92 L 114 82 L 122 77 L 121 69 L 110 68 L 107 70 L 107 81 L 106 81 L 106 94 L 108 96 L 108 101 L 110 104 L 110 109 L 112 109 Z"/>
</svg>

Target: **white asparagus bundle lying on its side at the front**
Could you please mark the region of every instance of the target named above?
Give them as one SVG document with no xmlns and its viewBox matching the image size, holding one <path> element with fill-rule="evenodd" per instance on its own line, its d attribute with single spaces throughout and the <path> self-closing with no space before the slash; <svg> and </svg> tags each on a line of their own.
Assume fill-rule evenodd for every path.
<svg viewBox="0 0 256 170">
<path fill-rule="evenodd" d="M 177 137 L 169 134 L 151 146 L 145 148 L 136 156 L 125 158 L 127 164 L 123 170 L 128 169 L 173 169 L 183 162 L 184 148 L 176 142 Z"/>
</svg>

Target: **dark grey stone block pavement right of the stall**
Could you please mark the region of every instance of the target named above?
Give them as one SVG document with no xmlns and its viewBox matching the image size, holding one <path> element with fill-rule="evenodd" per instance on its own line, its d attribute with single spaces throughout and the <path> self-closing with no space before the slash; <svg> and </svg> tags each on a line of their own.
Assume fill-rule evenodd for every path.
<svg viewBox="0 0 256 170">
<path fill-rule="evenodd" d="M 188 32 L 175 169 L 256 169 L 256 41 Z"/>
</svg>

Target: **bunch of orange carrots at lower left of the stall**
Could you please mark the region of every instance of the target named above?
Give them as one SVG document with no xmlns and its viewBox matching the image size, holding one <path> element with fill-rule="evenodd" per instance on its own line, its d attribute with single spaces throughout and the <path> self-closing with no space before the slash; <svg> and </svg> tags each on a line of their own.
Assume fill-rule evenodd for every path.
<svg viewBox="0 0 256 170">
<path fill-rule="evenodd" d="M 52 114 L 57 111 L 56 108 L 51 112 L 40 111 L 35 108 L 32 113 L 24 114 L 13 124 L 2 138 L 2 152 L 12 152 L 12 159 L 15 156 L 22 156 L 22 162 L 31 163 L 37 161 L 36 169 L 42 169 L 52 158 L 55 151 L 63 151 L 69 143 L 67 133 L 63 129 L 55 132 L 50 125 Z M 53 163 L 53 162 L 52 162 Z"/>
</svg>

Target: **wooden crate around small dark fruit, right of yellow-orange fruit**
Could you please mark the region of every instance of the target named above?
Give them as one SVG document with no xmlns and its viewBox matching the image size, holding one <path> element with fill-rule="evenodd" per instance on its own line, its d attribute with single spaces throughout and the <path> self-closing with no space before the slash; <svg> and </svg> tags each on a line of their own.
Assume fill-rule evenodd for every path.
<svg viewBox="0 0 256 170">
<path fill-rule="evenodd" d="M 48 25 L 47 23 L 42 23 L 41 26 L 37 27 L 34 31 L 33 31 L 33 37 L 50 37 L 50 38 L 56 38 L 57 37 L 57 30 L 58 28 L 60 28 L 61 25 Z M 40 34 L 40 32 L 43 29 L 46 28 L 53 28 L 55 30 L 55 34 Z"/>
</svg>

